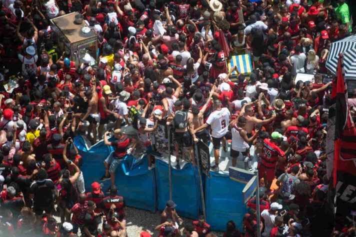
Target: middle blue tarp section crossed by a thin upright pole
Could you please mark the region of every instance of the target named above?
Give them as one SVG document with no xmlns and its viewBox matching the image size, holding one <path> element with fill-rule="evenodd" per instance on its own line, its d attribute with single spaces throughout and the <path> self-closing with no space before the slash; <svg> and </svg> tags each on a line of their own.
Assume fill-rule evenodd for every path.
<svg viewBox="0 0 356 237">
<path fill-rule="evenodd" d="M 172 168 L 172 200 L 179 215 L 196 219 L 199 215 L 199 189 L 197 172 L 190 163 L 181 169 Z M 169 200 L 168 164 L 156 159 L 158 209 L 162 210 Z"/>
</svg>

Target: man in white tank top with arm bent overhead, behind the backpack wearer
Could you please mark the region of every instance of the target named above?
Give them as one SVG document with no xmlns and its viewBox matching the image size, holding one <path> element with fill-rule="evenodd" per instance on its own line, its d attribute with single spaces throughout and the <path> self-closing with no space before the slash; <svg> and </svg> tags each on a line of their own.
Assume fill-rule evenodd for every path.
<svg viewBox="0 0 356 237">
<path fill-rule="evenodd" d="M 172 75 L 169 75 L 168 78 L 176 84 L 176 89 L 173 93 L 173 89 L 171 87 L 165 88 L 165 92 L 167 96 L 162 99 L 163 104 L 163 114 L 162 117 L 168 117 L 168 120 L 171 120 L 174 114 L 174 102 L 177 101 L 180 91 L 180 83 L 177 81 Z"/>
</svg>

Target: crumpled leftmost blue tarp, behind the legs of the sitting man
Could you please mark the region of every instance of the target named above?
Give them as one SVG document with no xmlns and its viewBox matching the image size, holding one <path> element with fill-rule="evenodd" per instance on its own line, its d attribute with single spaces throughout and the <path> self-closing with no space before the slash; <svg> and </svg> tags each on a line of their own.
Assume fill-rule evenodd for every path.
<svg viewBox="0 0 356 237">
<path fill-rule="evenodd" d="M 104 174 L 103 161 L 112 151 L 103 141 L 86 148 L 84 139 L 76 136 L 73 140 L 83 158 L 80 169 L 83 172 L 85 189 L 91 191 L 91 183 L 98 181 Z M 148 161 L 145 157 L 134 163 L 131 168 L 133 156 L 128 156 L 116 169 L 115 184 L 118 195 L 124 197 L 129 206 L 154 211 L 156 209 L 156 182 L 154 171 L 148 170 Z M 110 185 L 110 180 L 103 181 L 103 190 Z"/>
</svg>

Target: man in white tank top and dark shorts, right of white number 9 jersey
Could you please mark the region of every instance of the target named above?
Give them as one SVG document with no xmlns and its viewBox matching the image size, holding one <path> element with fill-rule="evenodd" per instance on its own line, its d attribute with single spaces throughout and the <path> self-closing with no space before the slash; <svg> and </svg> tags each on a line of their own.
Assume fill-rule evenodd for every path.
<svg viewBox="0 0 356 237">
<path fill-rule="evenodd" d="M 240 152 L 245 157 L 245 169 L 247 169 L 250 164 L 250 155 L 249 155 L 249 145 L 248 143 L 252 142 L 254 138 L 258 135 L 257 130 L 255 130 L 253 136 L 247 137 L 246 131 L 243 129 L 246 126 L 246 118 L 243 116 L 238 117 L 238 122 L 235 123 L 231 128 L 231 151 L 230 156 L 232 157 L 232 166 L 236 166 L 236 160 Z"/>
</svg>

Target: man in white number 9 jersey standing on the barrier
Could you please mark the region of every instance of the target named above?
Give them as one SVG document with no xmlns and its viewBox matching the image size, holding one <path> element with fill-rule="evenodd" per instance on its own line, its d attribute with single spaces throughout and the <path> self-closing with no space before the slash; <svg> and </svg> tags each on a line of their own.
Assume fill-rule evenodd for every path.
<svg viewBox="0 0 356 237">
<path fill-rule="evenodd" d="M 215 110 L 208 116 L 206 123 L 198 127 L 196 130 L 199 131 L 206 128 L 208 125 L 211 126 L 211 136 L 215 156 L 215 165 L 211 166 L 211 170 L 218 172 L 220 141 L 227 132 L 228 123 L 230 121 L 230 111 L 227 108 L 221 108 L 221 101 L 219 99 L 214 100 L 214 109 Z M 223 143 L 224 147 L 226 147 L 226 140 L 223 140 Z"/>
</svg>

